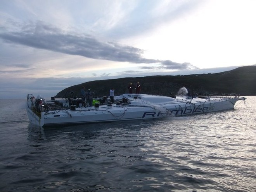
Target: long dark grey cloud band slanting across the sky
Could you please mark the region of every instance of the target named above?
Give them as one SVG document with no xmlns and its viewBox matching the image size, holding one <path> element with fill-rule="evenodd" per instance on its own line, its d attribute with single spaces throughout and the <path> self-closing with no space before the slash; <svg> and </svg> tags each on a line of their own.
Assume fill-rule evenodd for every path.
<svg viewBox="0 0 256 192">
<path fill-rule="evenodd" d="M 169 60 L 146 59 L 142 57 L 144 53 L 142 49 L 119 45 L 114 42 L 100 42 L 88 35 L 67 34 L 42 22 L 24 26 L 19 32 L 2 32 L 0 38 L 9 43 L 18 43 L 64 54 L 81 55 L 91 59 L 145 64 L 158 63 L 168 69 L 193 68 L 189 63 L 179 64 Z"/>
</svg>

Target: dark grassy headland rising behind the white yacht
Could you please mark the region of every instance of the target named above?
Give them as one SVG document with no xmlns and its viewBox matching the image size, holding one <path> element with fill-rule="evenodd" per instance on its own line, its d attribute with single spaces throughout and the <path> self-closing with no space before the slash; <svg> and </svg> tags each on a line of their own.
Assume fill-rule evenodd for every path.
<svg viewBox="0 0 256 192">
<path fill-rule="evenodd" d="M 169 96 L 170 93 L 176 94 L 183 86 L 198 94 L 239 93 L 240 95 L 256 95 L 256 66 L 239 67 L 231 71 L 214 74 L 159 75 L 89 81 L 68 87 L 57 93 L 55 98 L 64 97 L 68 91 L 79 97 L 82 86 L 85 86 L 86 90 L 90 88 L 98 97 L 109 96 L 111 87 L 115 88 L 115 95 L 121 95 L 128 93 L 129 83 L 133 83 L 135 86 L 138 81 L 142 87 L 140 93 L 153 95 Z"/>
</svg>

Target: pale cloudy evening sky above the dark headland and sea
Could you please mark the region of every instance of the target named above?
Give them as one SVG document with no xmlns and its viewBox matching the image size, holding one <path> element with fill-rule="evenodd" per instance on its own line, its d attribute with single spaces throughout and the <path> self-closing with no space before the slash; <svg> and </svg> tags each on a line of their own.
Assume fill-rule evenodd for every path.
<svg viewBox="0 0 256 192">
<path fill-rule="evenodd" d="M 255 10 L 256 0 L 1 0 L 0 99 L 255 65 Z"/>
</svg>

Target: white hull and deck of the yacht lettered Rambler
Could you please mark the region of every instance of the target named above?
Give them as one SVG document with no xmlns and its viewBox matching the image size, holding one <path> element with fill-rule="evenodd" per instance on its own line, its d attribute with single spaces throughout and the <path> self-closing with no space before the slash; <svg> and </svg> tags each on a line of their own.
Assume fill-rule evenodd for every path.
<svg viewBox="0 0 256 192">
<path fill-rule="evenodd" d="M 244 97 L 194 98 L 178 97 L 176 99 L 155 95 L 124 94 L 116 100 L 126 98 L 129 103 L 102 105 L 99 107 L 78 107 L 75 109 L 59 109 L 36 114 L 31 104 L 27 113 L 31 123 L 39 126 L 68 125 L 83 123 L 99 123 L 110 121 L 126 121 L 135 119 L 154 119 L 170 116 L 184 116 L 206 112 L 234 109 L 238 100 Z M 136 98 L 136 99 L 134 99 Z M 32 102 L 33 105 L 33 102 Z"/>
</svg>

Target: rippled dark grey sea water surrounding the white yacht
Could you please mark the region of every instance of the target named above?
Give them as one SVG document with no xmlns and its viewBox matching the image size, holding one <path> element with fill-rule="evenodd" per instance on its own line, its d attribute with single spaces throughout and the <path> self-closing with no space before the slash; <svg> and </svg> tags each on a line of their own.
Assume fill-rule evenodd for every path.
<svg viewBox="0 0 256 192">
<path fill-rule="evenodd" d="M 0 191 L 255 192 L 256 97 L 235 110 L 40 128 L 0 100 Z"/>
</svg>

